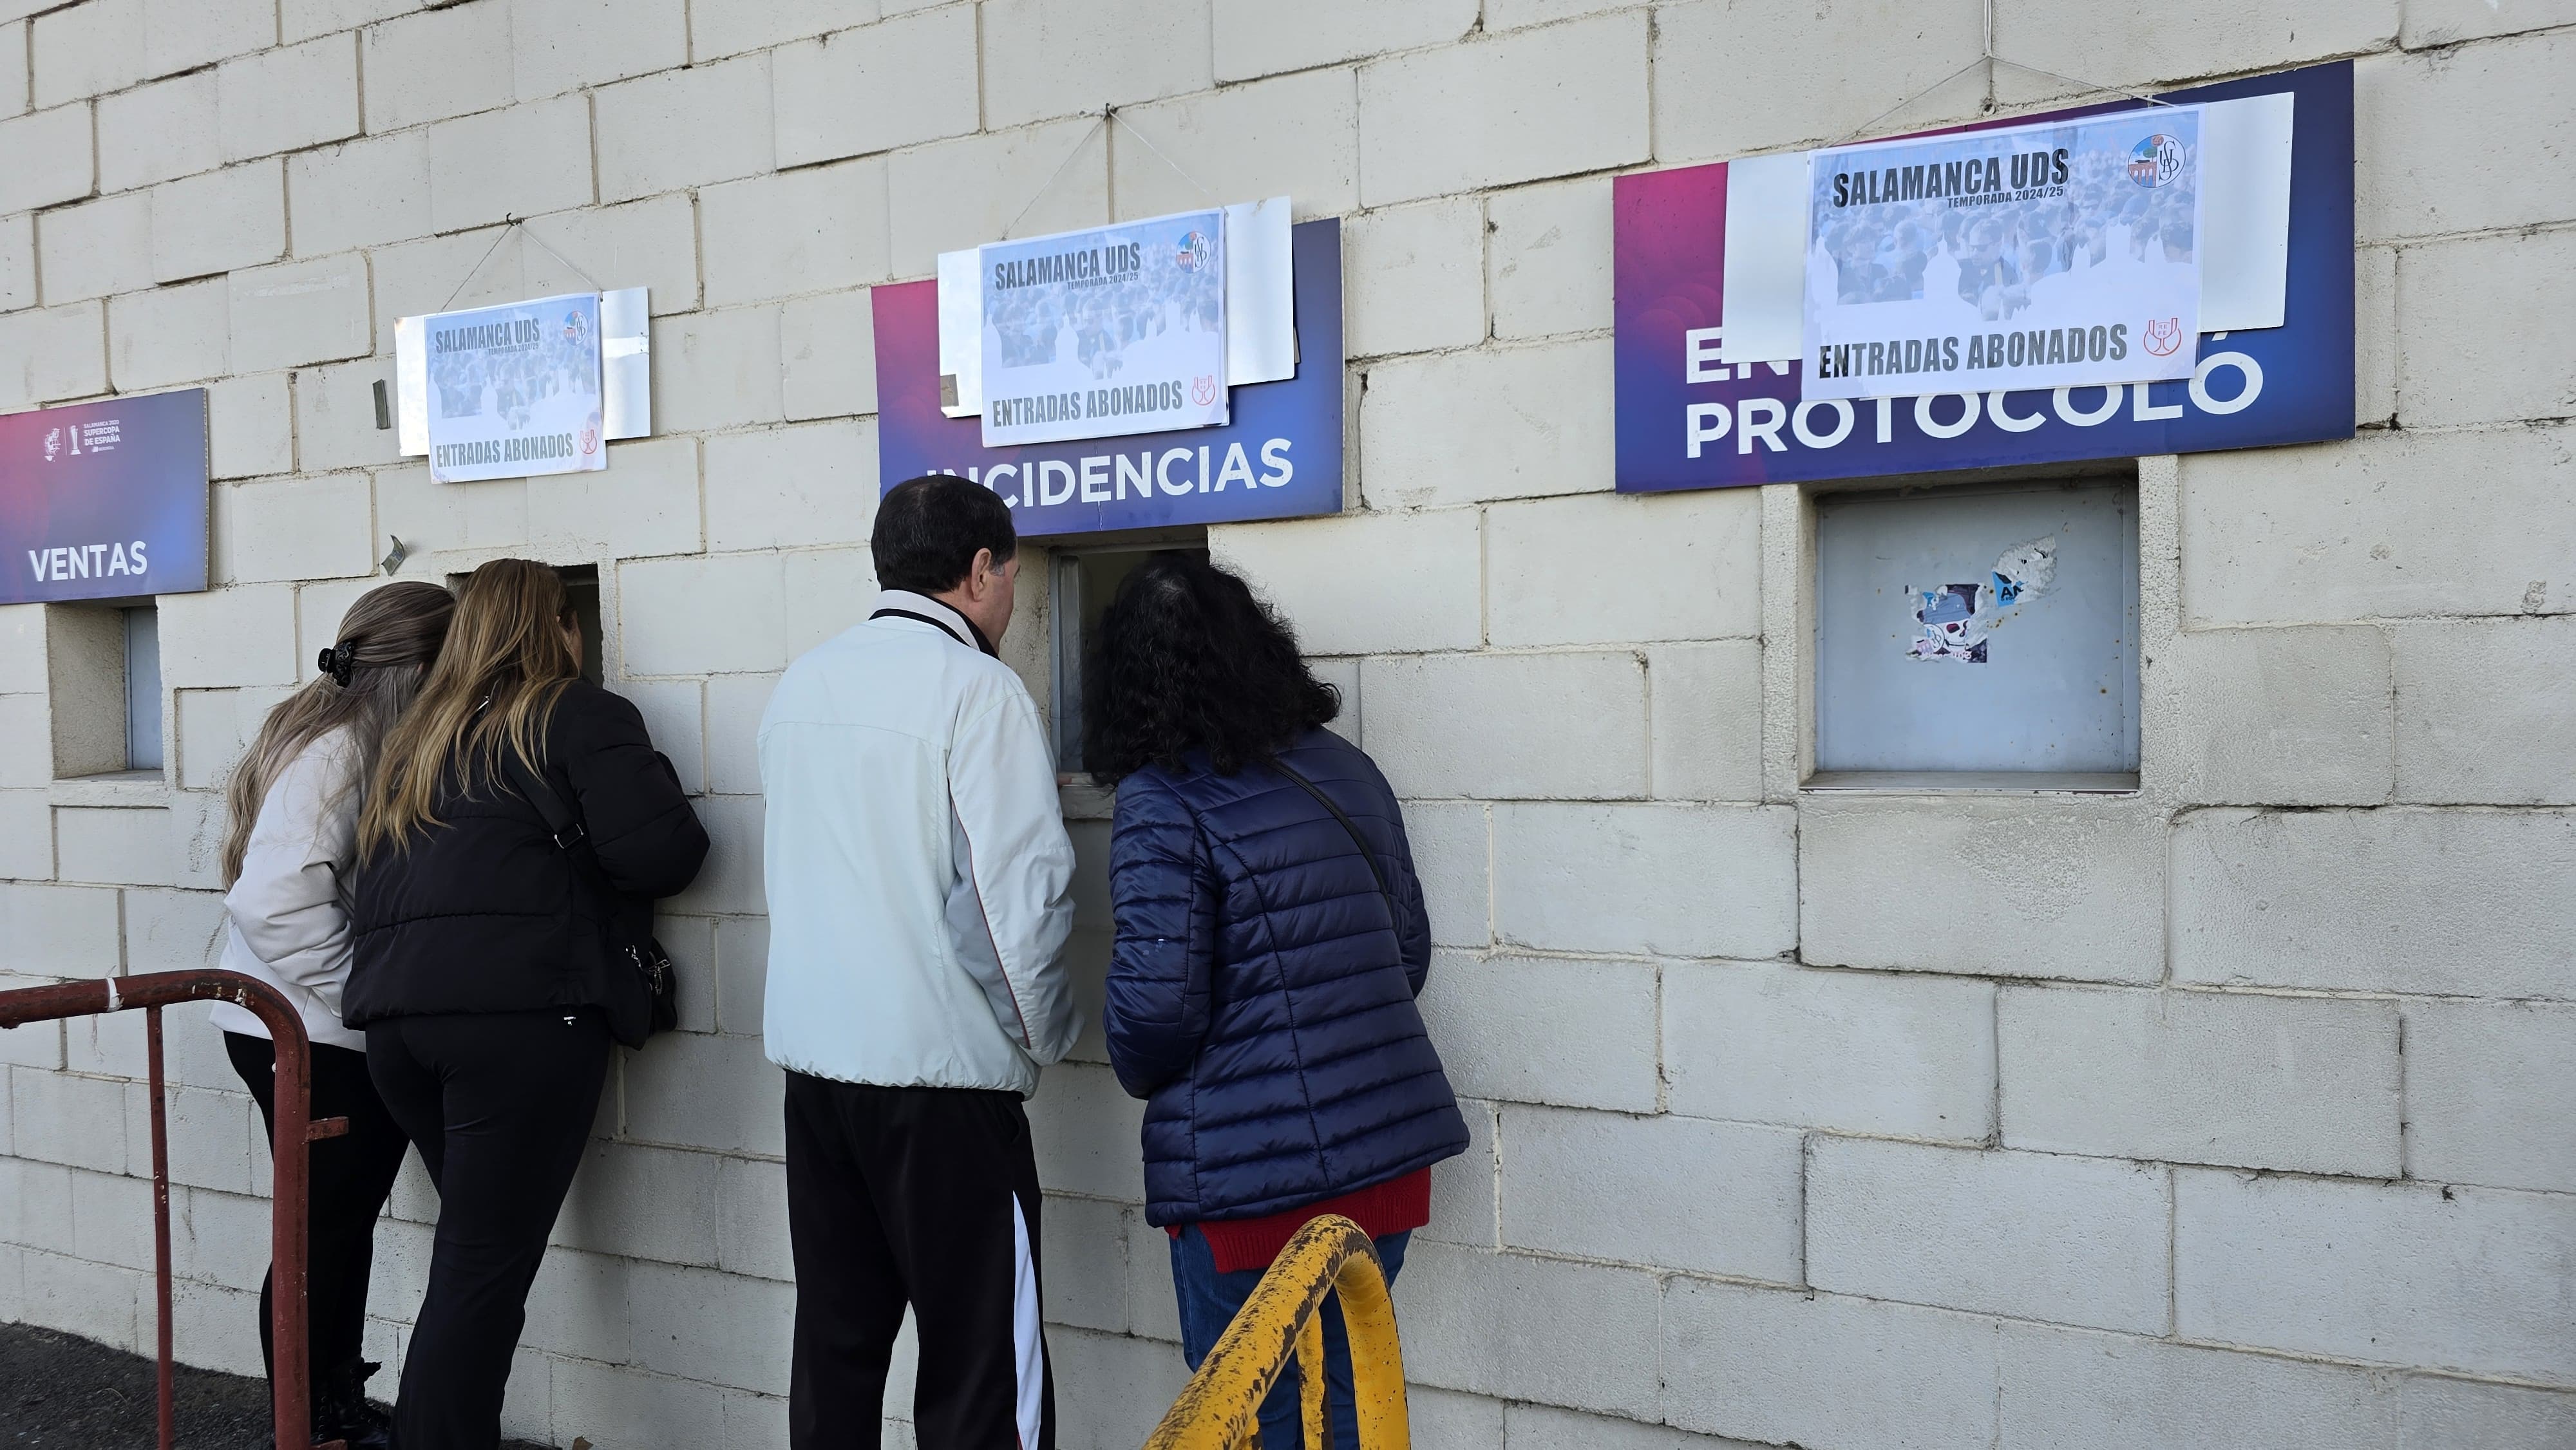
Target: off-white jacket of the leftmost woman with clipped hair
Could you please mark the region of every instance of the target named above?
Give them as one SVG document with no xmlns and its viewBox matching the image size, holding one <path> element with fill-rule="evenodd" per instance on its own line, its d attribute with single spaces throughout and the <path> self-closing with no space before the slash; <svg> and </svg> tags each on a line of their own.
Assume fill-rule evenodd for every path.
<svg viewBox="0 0 2576 1450">
<path fill-rule="evenodd" d="M 224 894 L 224 914 L 281 981 L 304 986 L 332 1015 L 348 984 L 350 932 L 340 909 L 340 873 L 355 858 L 358 791 L 337 737 L 304 747 L 268 786 L 250 827 L 242 876 Z"/>
</svg>

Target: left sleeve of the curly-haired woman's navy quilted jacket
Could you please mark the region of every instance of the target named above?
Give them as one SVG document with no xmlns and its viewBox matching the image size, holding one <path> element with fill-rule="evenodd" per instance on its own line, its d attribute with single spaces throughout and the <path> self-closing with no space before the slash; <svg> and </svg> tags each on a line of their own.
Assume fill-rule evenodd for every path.
<svg viewBox="0 0 2576 1450">
<path fill-rule="evenodd" d="M 1110 917 L 1110 1069 L 1146 1097 L 1198 1059 L 1216 961 L 1213 863 L 1190 809 L 1149 775 L 1118 791 Z"/>
</svg>

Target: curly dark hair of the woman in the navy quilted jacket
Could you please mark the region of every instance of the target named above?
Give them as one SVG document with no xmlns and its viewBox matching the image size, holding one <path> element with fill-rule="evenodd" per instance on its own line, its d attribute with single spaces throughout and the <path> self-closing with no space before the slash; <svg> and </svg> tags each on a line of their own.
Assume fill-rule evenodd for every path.
<svg viewBox="0 0 2576 1450">
<path fill-rule="evenodd" d="M 1198 554 L 1154 554 L 1118 587 L 1082 670 L 1082 762 L 1115 786 L 1146 765 L 1218 775 L 1278 757 L 1342 713 L 1306 670 L 1296 631 L 1239 577 Z"/>
</svg>

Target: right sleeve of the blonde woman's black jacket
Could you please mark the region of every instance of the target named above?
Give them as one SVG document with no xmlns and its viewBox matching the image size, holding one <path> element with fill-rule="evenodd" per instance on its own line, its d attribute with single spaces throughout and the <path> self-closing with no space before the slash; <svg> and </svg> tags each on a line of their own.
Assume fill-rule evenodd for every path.
<svg viewBox="0 0 2576 1450">
<path fill-rule="evenodd" d="M 572 809 L 608 883 L 629 896 L 688 889 L 706 860 L 706 827 L 634 703 L 574 683 L 554 706 L 546 737 L 546 770 L 572 786 Z"/>
</svg>

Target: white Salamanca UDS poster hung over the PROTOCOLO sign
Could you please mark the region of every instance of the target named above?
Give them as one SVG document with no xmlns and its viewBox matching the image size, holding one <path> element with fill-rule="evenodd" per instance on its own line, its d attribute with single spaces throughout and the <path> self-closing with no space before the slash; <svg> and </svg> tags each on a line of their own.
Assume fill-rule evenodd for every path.
<svg viewBox="0 0 2576 1450">
<path fill-rule="evenodd" d="M 2187 379 L 2200 108 L 1808 157 L 1801 397 Z"/>
</svg>

